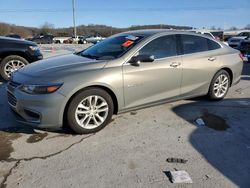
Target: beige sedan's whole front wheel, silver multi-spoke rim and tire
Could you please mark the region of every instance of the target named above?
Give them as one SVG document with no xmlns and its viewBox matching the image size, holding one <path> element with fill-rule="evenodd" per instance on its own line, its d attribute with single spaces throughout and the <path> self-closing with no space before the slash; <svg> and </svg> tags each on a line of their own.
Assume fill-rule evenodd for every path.
<svg viewBox="0 0 250 188">
<path fill-rule="evenodd" d="M 78 93 L 67 111 L 68 125 L 79 134 L 94 133 L 104 128 L 113 115 L 110 95 L 99 88 Z"/>
</svg>

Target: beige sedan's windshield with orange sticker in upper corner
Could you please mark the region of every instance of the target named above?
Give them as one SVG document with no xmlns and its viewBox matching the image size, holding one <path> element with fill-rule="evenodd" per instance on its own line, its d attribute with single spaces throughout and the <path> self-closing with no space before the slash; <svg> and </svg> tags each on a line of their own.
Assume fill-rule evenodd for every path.
<svg viewBox="0 0 250 188">
<path fill-rule="evenodd" d="M 79 55 L 91 59 L 115 59 L 121 57 L 142 38 L 142 36 L 134 35 L 111 37 L 87 48 Z"/>
</svg>

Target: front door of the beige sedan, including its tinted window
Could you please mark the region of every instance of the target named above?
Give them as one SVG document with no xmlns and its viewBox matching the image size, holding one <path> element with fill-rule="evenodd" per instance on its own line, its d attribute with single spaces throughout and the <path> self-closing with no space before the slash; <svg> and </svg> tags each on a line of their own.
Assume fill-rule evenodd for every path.
<svg viewBox="0 0 250 188">
<path fill-rule="evenodd" d="M 182 69 L 181 58 L 177 55 L 176 36 L 156 38 L 138 54 L 154 55 L 155 60 L 141 63 L 140 66 L 123 65 L 126 108 L 178 97 Z"/>
</svg>

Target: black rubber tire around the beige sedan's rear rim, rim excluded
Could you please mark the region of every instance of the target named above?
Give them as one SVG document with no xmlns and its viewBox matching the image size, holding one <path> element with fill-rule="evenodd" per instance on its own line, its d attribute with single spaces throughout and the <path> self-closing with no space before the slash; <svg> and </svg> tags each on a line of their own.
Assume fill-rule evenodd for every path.
<svg viewBox="0 0 250 188">
<path fill-rule="evenodd" d="M 217 96 L 215 95 L 215 92 L 214 92 L 214 84 L 215 84 L 217 78 L 218 78 L 219 76 L 221 76 L 221 75 L 224 75 L 224 76 L 227 77 L 227 79 L 228 79 L 228 86 L 227 86 L 226 92 L 225 92 L 222 96 L 217 97 Z M 230 75 L 228 74 L 227 71 L 225 71 L 225 70 L 220 70 L 219 72 L 217 72 L 217 73 L 214 75 L 214 77 L 213 77 L 213 79 L 212 79 L 212 81 L 211 81 L 210 87 L 209 87 L 209 91 L 208 91 L 208 97 L 209 97 L 209 99 L 211 99 L 211 100 L 222 100 L 222 99 L 227 95 L 227 92 L 228 92 L 229 87 L 230 87 L 230 83 L 231 83 L 231 78 L 230 78 Z"/>
</svg>

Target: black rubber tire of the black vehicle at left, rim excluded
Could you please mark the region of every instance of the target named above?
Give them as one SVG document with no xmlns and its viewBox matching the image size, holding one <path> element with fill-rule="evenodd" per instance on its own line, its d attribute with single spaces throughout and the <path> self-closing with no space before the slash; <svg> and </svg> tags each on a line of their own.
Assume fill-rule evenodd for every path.
<svg viewBox="0 0 250 188">
<path fill-rule="evenodd" d="M 6 64 L 12 60 L 18 60 L 18 61 L 21 61 L 23 64 L 25 65 L 28 65 L 29 62 L 24 59 L 23 57 L 21 56 L 18 56 L 18 55 L 10 55 L 10 56 L 7 56 L 5 57 L 2 62 L 0 63 L 0 75 L 2 76 L 2 78 L 4 80 L 9 80 L 9 76 L 6 74 L 6 72 L 4 71 L 4 67 L 6 66 Z"/>
</svg>

